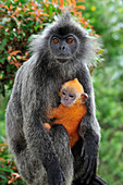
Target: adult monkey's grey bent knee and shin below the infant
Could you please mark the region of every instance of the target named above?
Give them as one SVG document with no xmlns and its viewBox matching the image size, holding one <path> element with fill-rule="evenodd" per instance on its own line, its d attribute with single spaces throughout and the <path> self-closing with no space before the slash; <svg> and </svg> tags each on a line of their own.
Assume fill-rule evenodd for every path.
<svg viewBox="0 0 123 185">
<path fill-rule="evenodd" d="M 63 125 L 53 125 L 50 130 L 56 152 L 63 171 L 63 185 L 71 185 L 73 180 L 73 156 L 70 148 L 70 137 Z"/>
</svg>

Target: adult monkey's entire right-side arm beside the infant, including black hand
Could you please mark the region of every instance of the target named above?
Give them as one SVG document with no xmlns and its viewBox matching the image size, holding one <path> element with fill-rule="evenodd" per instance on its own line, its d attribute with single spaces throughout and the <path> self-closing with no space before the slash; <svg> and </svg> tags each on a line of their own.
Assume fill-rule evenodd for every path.
<svg viewBox="0 0 123 185">
<path fill-rule="evenodd" d="M 100 127 L 96 119 L 95 97 L 89 71 L 83 65 L 77 73 L 77 78 L 84 87 L 84 91 L 88 95 L 86 102 L 87 114 L 83 118 L 79 126 L 79 135 L 84 135 L 84 144 L 82 148 L 82 158 L 84 159 L 82 183 L 89 184 L 96 174 L 98 148 L 100 139 Z"/>
</svg>

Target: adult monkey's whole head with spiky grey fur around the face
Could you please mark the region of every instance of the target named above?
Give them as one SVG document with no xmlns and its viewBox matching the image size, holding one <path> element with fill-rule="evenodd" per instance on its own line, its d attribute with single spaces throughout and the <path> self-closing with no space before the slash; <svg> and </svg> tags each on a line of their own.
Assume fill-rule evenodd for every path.
<svg viewBox="0 0 123 185">
<path fill-rule="evenodd" d="M 69 36 L 74 38 L 74 46 L 67 45 L 69 42 L 66 40 Z M 56 37 L 57 39 L 54 39 Z M 56 42 L 51 39 L 54 39 L 59 44 L 54 45 Z M 64 42 L 63 39 L 65 40 L 65 47 L 62 45 Z M 60 51 L 60 48 L 63 52 Z M 45 27 L 41 35 L 33 37 L 29 45 L 29 50 L 36 55 L 36 58 L 42 59 L 42 57 L 47 54 L 50 59 L 53 59 L 56 58 L 56 54 L 58 54 L 57 58 L 59 59 L 65 58 L 67 60 L 69 58 L 70 60 L 71 58 L 73 64 L 91 64 L 97 57 L 96 49 L 94 38 L 88 36 L 87 32 L 81 26 L 81 24 L 73 20 L 67 11 L 62 15 L 56 16 L 54 21 Z"/>
</svg>

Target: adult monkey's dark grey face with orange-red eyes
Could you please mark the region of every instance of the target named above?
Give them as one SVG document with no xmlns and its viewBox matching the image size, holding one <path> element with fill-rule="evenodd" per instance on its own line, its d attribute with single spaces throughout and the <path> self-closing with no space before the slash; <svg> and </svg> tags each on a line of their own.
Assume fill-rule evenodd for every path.
<svg viewBox="0 0 123 185">
<path fill-rule="evenodd" d="M 50 47 L 53 57 L 60 62 L 66 62 L 73 58 L 77 49 L 77 38 L 74 35 L 52 36 Z"/>
</svg>

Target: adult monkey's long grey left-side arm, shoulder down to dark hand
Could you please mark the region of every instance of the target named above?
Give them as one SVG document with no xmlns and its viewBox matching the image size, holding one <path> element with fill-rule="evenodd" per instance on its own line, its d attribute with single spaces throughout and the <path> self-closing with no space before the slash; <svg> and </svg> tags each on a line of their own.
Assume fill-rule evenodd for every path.
<svg viewBox="0 0 123 185">
<path fill-rule="evenodd" d="M 23 131 L 28 150 L 40 160 L 48 175 L 49 185 L 63 182 L 63 173 L 51 137 L 44 127 L 42 89 L 35 75 L 26 69 L 22 82 Z M 29 83 L 28 83 L 29 82 Z M 32 88 L 30 88 L 32 86 Z M 40 87 L 40 89 L 39 89 Z M 38 168 L 37 168 L 38 169 Z"/>
</svg>

